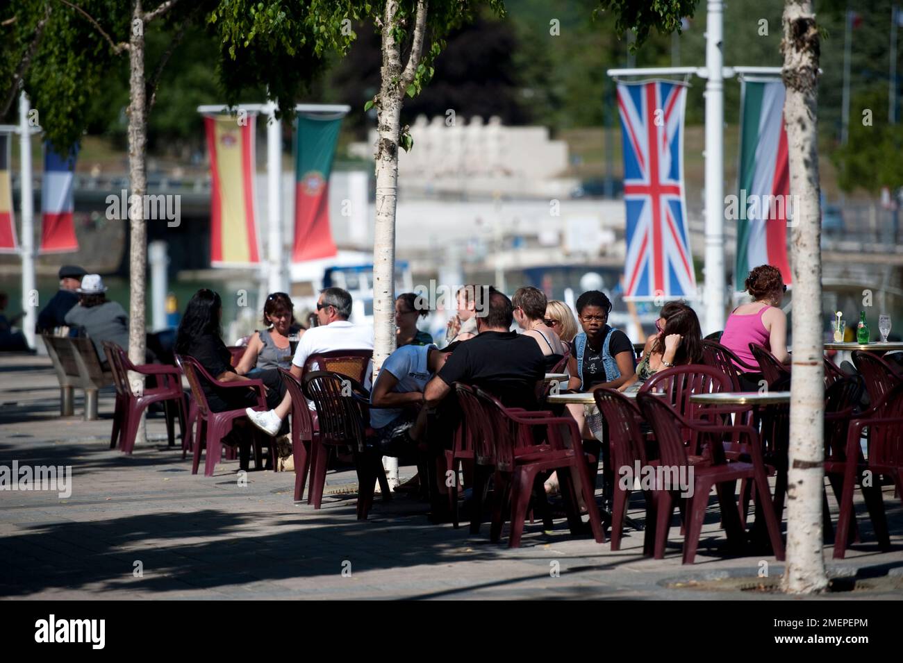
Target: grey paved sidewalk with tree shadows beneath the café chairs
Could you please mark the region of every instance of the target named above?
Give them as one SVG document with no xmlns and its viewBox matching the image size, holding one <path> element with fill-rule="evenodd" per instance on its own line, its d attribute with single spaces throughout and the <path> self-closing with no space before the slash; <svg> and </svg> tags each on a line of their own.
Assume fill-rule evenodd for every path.
<svg viewBox="0 0 903 663">
<path fill-rule="evenodd" d="M 153 441 L 124 456 L 108 448 L 113 392 L 103 393 L 102 419 L 94 422 L 81 420 L 81 398 L 77 393 L 78 416 L 60 418 L 49 360 L 0 355 L 0 465 L 71 465 L 73 474 L 66 499 L 47 491 L 0 491 L 0 597 L 778 598 L 664 586 L 756 576 L 763 563 L 769 576 L 780 574 L 774 557 L 729 556 L 714 501 L 694 566 L 680 563 L 676 528 L 664 560 L 642 557 L 641 532 L 628 529 L 622 549 L 612 552 L 608 543 L 573 538 L 563 520 L 550 536 L 539 523 L 527 524 L 523 547 L 509 550 L 504 541 L 489 543 L 487 525 L 471 537 L 466 524 L 430 524 L 425 506 L 408 497 L 388 503 L 377 497 L 369 520 L 358 522 L 354 493 L 328 495 L 320 511 L 295 504 L 292 473 L 252 470 L 243 487 L 234 461 L 219 465 L 213 477 L 192 475 L 190 459 L 167 447 L 160 416 L 149 420 Z M 326 492 L 340 492 L 354 480 L 353 472 L 330 473 Z M 863 543 L 833 570 L 901 572 L 903 513 L 892 488 L 884 497 L 893 551 L 880 553 L 862 518 Z M 643 512 L 630 516 L 642 520 Z"/>
</svg>

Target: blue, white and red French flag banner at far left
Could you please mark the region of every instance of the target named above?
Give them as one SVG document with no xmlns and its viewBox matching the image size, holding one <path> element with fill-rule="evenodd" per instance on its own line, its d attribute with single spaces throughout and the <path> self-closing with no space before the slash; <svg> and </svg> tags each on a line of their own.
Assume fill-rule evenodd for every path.
<svg viewBox="0 0 903 663">
<path fill-rule="evenodd" d="M 75 161 L 78 146 L 73 145 L 68 156 L 53 151 L 44 142 L 44 179 L 41 187 L 41 250 L 40 253 L 69 253 L 79 250 L 75 236 L 72 211 L 72 186 L 75 180 Z"/>
</svg>

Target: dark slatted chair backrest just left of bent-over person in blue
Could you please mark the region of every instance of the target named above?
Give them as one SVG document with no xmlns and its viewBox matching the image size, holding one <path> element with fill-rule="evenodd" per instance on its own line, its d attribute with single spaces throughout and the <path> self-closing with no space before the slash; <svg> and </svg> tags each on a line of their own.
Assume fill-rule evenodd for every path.
<svg viewBox="0 0 903 663">
<path fill-rule="evenodd" d="M 346 392 L 348 376 L 332 371 L 304 375 L 303 393 L 313 401 L 321 440 L 326 444 L 356 445 L 364 450 L 364 419 L 358 401 Z"/>
</svg>

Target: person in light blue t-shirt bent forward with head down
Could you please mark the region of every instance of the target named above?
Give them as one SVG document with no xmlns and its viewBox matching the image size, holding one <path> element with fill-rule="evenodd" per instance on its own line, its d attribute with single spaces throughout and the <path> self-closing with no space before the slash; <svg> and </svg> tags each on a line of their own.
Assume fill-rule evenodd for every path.
<svg viewBox="0 0 903 663">
<path fill-rule="evenodd" d="M 435 345 L 403 345 L 386 358 L 370 396 L 370 426 L 387 456 L 414 450 L 423 435 L 424 387 L 452 351 Z"/>
</svg>

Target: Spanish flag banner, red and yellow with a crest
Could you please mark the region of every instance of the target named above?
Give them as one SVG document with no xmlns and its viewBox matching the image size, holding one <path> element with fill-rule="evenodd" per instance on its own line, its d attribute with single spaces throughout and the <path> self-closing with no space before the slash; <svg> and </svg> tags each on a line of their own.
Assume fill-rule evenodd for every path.
<svg viewBox="0 0 903 663">
<path fill-rule="evenodd" d="M 210 158 L 210 264 L 260 262 L 256 213 L 256 115 L 205 115 Z"/>
</svg>

